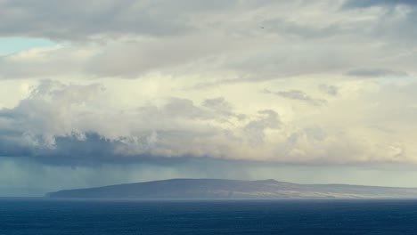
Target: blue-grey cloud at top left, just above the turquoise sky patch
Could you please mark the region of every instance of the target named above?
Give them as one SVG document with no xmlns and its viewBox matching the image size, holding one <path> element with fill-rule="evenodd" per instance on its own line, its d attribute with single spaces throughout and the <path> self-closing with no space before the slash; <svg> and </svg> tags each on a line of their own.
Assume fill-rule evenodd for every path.
<svg viewBox="0 0 417 235">
<path fill-rule="evenodd" d="M 206 14 L 238 7 L 256 8 L 265 4 L 263 2 L 268 1 L 253 4 L 241 1 L 105 0 L 97 4 L 41 0 L 35 4 L 6 0 L 0 3 L 3 15 L 0 35 L 47 37 L 59 41 L 181 36 L 200 30 L 196 16 L 203 18 Z"/>
</svg>

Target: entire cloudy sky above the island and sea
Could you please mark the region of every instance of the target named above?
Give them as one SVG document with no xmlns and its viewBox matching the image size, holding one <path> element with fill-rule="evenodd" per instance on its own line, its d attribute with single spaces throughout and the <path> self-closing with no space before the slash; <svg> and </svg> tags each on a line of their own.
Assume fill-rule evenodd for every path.
<svg viewBox="0 0 417 235">
<path fill-rule="evenodd" d="M 417 187 L 417 1 L 0 0 L 0 196 Z"/>
</svg>

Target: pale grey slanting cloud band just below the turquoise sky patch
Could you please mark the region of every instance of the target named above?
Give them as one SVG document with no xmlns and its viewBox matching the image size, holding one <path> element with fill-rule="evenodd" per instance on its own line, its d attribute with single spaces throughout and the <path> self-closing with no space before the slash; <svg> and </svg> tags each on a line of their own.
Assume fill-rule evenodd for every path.
<svg viewBox="0 0 417 235">
<path fill-rule="evenodd" d="M 208 39 L 207 36 L 204 37 Z M 203 37 L 127 40 L 107 45 L 57 45 L 34 48 L 0 57 L 1 78 L 122 77 L 135 78 L 164 71 L 222 51 L 221 38 Z"/>
</svg>

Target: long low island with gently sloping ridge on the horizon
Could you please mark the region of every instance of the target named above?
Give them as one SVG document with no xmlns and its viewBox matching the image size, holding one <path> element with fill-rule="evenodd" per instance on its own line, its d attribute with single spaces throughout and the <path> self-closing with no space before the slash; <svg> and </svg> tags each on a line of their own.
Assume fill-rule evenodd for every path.
<svg viewBox="0 0 417 235">
<path fill-rule="evenodd" d="M 219 179 L 173 179 L 60 190 L 61 199 L 417 199 L 417 188 Z"/>
</svg>

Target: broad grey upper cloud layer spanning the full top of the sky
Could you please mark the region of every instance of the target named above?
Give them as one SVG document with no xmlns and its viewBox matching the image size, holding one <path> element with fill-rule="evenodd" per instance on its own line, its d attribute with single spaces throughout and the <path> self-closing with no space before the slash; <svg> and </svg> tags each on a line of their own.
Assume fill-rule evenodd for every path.
<svg viewBox="0 0 417 235">
<path fill-rule="evenodd" d="M 143 78 L 153 73 L 192 77 L 188 87 L 208 87 L 340 75 L 352 68 L 413 75 L 413 5 L 340 11 L 343 3 L 107 0 L 80 8 L 46 0 L 3 1 L 0 36 L 60 43 L 1 57 L 0 77 Z"/>
</svg>

